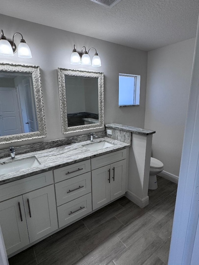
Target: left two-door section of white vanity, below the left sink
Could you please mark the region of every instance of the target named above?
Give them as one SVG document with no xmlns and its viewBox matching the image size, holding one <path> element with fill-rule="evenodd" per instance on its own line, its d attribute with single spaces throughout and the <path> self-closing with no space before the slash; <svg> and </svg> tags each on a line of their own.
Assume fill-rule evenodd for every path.
<svg viewBox="0 0 199 265">
<path fill-rule="evenodd" d="M 0 225 L 7 254 L 58 229 L 54 185 L 45 186 L 46 182 L 53 183 L 52 171 L 0 186 Z M 21 195 L 11 198 L 16 194 Z M 5 196 L 11 199 L 3 200 Z"/>
</svg>

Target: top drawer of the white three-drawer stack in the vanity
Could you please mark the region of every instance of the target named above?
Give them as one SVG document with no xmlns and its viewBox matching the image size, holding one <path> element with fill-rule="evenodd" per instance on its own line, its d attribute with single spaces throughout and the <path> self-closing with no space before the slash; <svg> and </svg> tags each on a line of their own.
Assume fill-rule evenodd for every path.
<svg viewBox="0 0 199 265">
<path fill-rule="evenodd" d="M 90 171 L 90 159 L 54 170 L 55 182 L 67 180 Z"/>
</svg>

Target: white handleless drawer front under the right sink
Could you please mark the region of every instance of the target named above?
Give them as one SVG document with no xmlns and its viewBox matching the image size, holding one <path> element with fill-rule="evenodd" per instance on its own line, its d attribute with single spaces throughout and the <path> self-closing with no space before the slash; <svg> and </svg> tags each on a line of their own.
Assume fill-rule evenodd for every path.
<svg viewBox="0 0 199 265">
<path fill-rule="evenodd" d="M 107 166 L 126 158 L 126 149 L 91 159 L 91 169 Z"/>
</svg>

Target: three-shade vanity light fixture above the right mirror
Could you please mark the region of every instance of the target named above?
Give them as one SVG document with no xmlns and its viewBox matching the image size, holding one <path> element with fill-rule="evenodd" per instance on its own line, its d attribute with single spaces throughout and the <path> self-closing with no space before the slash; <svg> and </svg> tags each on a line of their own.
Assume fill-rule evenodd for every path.
<svg viewBox="0 0 199 265">
<path fill-rule="evenodd" d="M 83 48 L 85 48 L 84 52 L 83 52 Z M 81 48 L 81 53 L 78 53 L 76 50 L 76 46 L 74 44 L 74 49 L 73 49 L 72 54 L 71 54 L 71 64 L 73 64 L 73 65 L 77 65 L 77 64 L 91 65 L 93 67 L 101 66 L 101 60 L 99 58 L 99 55 L 98 55 L 96 49 L 95 49 L 95 54 L 93 56 L 92 64 L 91 64 L 90 56 L 88 54 L 91 49 L 95 49 L 95 48 L 90 48 L 87 52 L 86 47 L 83 46 Z"/>
</svg>

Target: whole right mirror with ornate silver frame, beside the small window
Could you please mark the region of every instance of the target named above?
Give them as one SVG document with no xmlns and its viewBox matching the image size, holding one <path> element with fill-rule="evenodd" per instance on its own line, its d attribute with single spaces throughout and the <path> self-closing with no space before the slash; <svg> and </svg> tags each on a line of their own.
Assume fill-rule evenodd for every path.
<svg viewBox="0 0 199 265">
<path fill-rule="evenodd" d="M 104 127 L 104 73 L 58 68 L 63 134 Z"/>
</svg>

